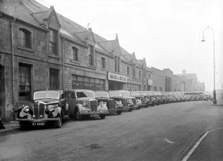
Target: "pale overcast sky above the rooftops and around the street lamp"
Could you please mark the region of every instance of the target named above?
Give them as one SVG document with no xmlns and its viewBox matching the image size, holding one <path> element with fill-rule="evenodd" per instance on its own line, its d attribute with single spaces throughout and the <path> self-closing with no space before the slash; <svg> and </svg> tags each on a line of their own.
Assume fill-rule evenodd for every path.
<svg viewBox="0 0 223 161">
<path fill-rule="evenodd" d="M 37 0 L 93 32 L 115 39 L 148 67 L 169 68 L 174 74 L 197 73 L 213 90 L 213 32 L 216 87 L 220 86 L 223 44 L 223 0 Z M 223 79 L 223 78 L 222 78 Z"/>
</svg>

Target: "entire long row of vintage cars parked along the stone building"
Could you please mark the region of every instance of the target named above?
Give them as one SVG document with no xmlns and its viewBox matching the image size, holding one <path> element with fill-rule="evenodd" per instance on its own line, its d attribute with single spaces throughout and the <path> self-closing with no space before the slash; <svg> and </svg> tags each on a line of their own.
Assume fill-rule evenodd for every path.
<svg viewBox="0 0 223 161">
<path fill-rule="evenodd" d="M 37 90 L 33 101 L 23 103 L 16 116 L 21 128 L 53 124 L 60 128 L 64 120 L 86 117 L 105 119 L 109 114 L 121 115 L 142 107 L 165 103 L 209 100 L 199 94 L 159 93 L 154 91 Z"/>
</svg>

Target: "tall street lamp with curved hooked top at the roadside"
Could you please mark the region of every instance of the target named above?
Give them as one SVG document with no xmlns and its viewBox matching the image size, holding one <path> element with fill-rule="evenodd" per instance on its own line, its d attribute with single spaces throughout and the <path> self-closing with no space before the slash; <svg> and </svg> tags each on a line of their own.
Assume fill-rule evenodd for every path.
<svg viewBox="0 0 223 161">
<path fill-rule="evenodd" d="M 210 29 L 213 33 L 213 70 L 214 70 L 214 91 L 213 91 L 213 104 L 217 104 L 217 99 L 216 99 L 216 90 L 215 90 L 215 33 L 214 29 L 212 27 L 207 26 L 204 31 L 203 31 L 203 37 L 202 37 L 202 42 L 205 42 L 204 39 L 204 33 L 206 30 Z"/>
</svg>

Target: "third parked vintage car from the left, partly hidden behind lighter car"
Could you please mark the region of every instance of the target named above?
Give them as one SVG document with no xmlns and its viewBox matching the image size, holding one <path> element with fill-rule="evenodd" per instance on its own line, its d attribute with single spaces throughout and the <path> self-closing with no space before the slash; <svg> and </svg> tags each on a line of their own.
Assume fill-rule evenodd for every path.
<svg viewBox="0 0 223 161">
<path fill-rule="evenodd" d="M 107 104 L 109 114 L 120 115 L 122 113 L 123 104 L 121 100 L 117 101 L 110 98 L 107 91 L 95 91 L 94 94 L 99 103 Z"/>
</svg>

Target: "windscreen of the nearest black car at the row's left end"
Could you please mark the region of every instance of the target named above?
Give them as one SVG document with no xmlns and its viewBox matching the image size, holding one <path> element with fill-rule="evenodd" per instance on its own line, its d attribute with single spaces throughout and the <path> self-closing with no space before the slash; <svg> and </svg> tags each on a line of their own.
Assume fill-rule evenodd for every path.
<svg viewBox="0 0 223 161">
<path fill-rule="evenodd" d="M 60 98 L 60 92 L 58 91 L 36 91 L 33 94 L 33 100 L 37 99 L 59 99 Z"/>
</svg>

